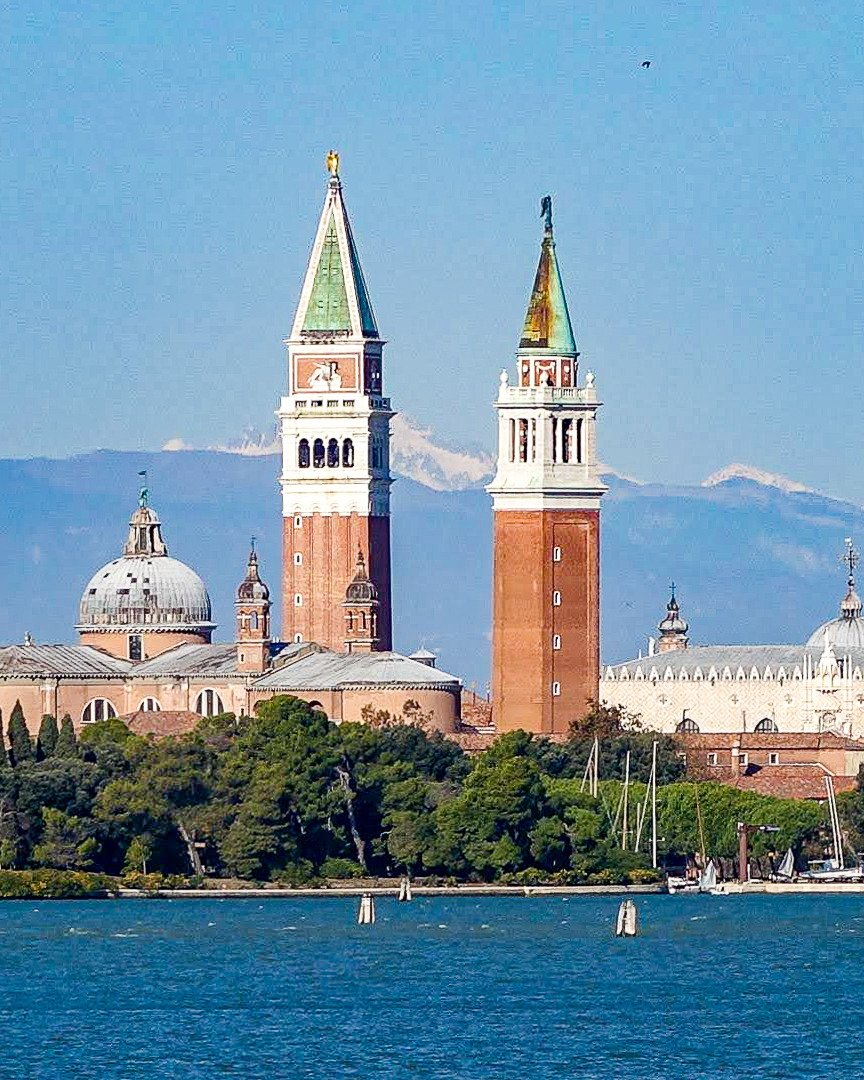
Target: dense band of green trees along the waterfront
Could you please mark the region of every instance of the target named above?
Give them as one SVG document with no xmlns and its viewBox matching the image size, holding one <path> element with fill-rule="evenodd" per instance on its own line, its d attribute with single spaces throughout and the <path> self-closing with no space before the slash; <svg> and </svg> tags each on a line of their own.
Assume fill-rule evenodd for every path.
<svg viewBox="0 0 864 1080">
<path fill-rule="evenodd" d="M 2 725 L 0 723 L 0 729 Z M 599 738 L 603 778 L 585 767 Z M 0 753 L 0 869 L 123 877 L 239 878 L 306 883 L 409 873 L 458 881 L 647 881 L 648 828 L 638 807 L 658 743 L 662 860 L 735 852 L 735 822 L 770 823 L 778 850 L 819 850 L 818 804 L 687 782 L 675 741 L 589 711 L 562 744 L 522 731 L 465 755 L 417 723 L 336 725 L 296 698 L 254 716 L 224 714 L 154 740 L 119 719 L 76 735 L 42 718 L 31 739 L 19 705 Z M 622 814 L 629 760 L 631 813 Z M 842 801 L 864 826 L 861 796 Z M 858 818 L 855 818 L 858 814 Z M 643 822 L 644 824 L 644 822 Z"/>
</svg>

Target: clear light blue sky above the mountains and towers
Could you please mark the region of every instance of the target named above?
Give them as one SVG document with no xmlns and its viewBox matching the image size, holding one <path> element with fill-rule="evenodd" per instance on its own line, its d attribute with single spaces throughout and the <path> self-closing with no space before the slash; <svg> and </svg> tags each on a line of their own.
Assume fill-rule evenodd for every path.
<svg viewBox="0 0 864 1080">
<path fill-rule="evenodd" d="M 1 456 L 269 430 L 336 147 L 397 408 L 491 444 L 551 191 L 607 462 L 864 500 L 859 4 L 14 6 Z"/>
</svg>

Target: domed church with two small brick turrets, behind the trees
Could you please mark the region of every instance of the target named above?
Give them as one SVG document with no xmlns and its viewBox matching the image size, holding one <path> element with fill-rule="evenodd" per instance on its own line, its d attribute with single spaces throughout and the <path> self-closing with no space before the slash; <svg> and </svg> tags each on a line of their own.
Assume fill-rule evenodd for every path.
<svg viewBox="0 0 864 1080">
<path fill-rule="evenodd" d="M 37 645 L 28 638 L 0 648 L 4 717 L 19 701 L 33 733 L 45 713 L 68 713 L 76 728 L 122 716 L 143 732 L 160 730 L 166 717 L 177 730 L 188 730 L 202 716 L 252 714 L 259 701 L 291 693 L 339 723 L 389 713 L 395 721 L 414 716 L 430 730 L 456 730 L 458 678 L 438 671 L 434 658 L 372 650 L 367 631 L 377 598 L 362 559 L 342 597 L 339 649 L 271 638 L 270 591 L 254 548 L 235 594 L 234 640 L 215 644 L 203 582 L 168 556 L 162 523 L 145 496 L 140 503 L 123 554 L 84 589 L 79 643 Z"/>
</svg>

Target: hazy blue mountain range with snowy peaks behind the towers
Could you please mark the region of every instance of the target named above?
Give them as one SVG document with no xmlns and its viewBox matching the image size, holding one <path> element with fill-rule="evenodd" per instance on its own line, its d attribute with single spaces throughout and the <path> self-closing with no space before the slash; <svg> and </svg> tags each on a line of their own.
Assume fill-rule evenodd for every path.
<svg viewBox="0 0 864 1080">
<path fill-rule="evenodd" d="M 491 512 L 482 489 L 492 461 L 442 447 L 402 421 L 394 432 L 395 647 L 420 644 L 441 666 L 485 687 L 489 663 Z M 135 505 L 137 473 L 172 554 L 213 597 L 217 637 L 233 634 L 233 592 L 248 538 L 278 595 L 279 461 L 249 435 L 225 449 L 99 450 L 65 460 L 0 460 L 0 642 L 29 631 L 72 640 L 86 580 L 117 557 Z M 647 647 L 677 584 L 692 644 L 804 642 L 843 594 L 847 536 L 864 511 L 784 477 L 733 465 L 701 486 L 638 484 L 609 471 L 603 516 L 603 656 Z M 278 625 L 278 620 L 276 623 Z"/>
</svg>

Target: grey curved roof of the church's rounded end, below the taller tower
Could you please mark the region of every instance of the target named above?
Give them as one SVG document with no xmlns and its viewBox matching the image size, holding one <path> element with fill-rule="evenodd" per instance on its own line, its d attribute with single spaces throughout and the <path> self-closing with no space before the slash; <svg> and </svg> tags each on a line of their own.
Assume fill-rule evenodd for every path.
<svg viewBox="0 0 864 1080">
<path fill-rule="evenodd" d="M 455 675 L 418 663 L 399 652 L 313 652 L 267 672 L 256 690 L 341 690 L 352 686 L 407 686 L 415 689 L 454 689 Z"/>
</svg>

